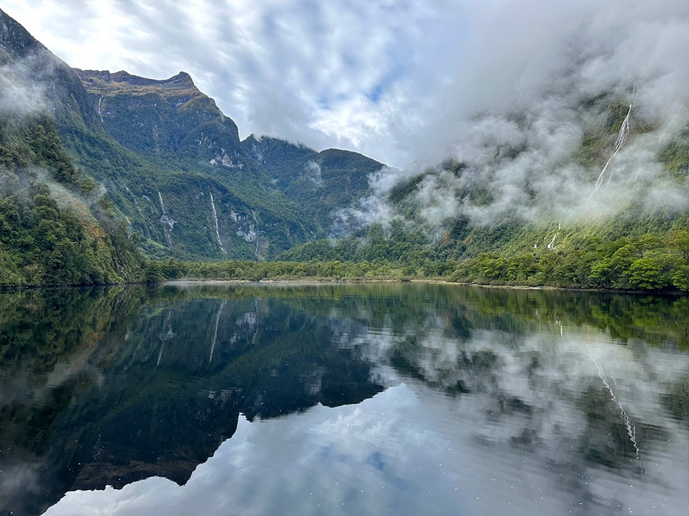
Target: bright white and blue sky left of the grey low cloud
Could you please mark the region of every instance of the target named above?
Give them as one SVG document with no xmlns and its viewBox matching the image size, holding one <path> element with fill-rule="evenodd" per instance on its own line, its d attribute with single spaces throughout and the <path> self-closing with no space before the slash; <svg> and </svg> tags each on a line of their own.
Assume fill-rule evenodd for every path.
<svg viewBox="0 0 689 516">
<path fill-rule="evenodd" d="M 189 72 L 242 138 L 267 133 L 402 166 L 402 135 L 422 129 L 424 110 L 451 80 L 472 3 L 8 0 L 2 8 L 73 67 L 159 79 Z"/>
</svg>

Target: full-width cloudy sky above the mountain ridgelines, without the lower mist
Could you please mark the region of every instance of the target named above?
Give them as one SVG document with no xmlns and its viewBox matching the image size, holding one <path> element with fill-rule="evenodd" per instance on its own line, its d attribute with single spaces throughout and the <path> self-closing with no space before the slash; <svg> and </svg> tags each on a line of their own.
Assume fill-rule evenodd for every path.
<svg viewBox="0 0 689 516">
<path fill-rule="evenodd" d="M 656 49 L 654 34 L 674 28 L 670 61 L 689 51 L 686 1 L 672 0 L 5 0 L 2 8 L 74 67 L 158 79 L 189 72 L 242 138 L 351 149 L 398 167 L 449 153 L 474 111 L 538 92 L 576 34 L 588 32 L 596 52 L 609 50 L 608 39 L 632 41 L 644 63 L 659 63 L 668 49 Z M 630 39 L 637 27 L 646 32 Z M 637 72 L 627 64 L 618 70 Z M 610 82 L 604 69 L 597 76 Z"/>
</svg>

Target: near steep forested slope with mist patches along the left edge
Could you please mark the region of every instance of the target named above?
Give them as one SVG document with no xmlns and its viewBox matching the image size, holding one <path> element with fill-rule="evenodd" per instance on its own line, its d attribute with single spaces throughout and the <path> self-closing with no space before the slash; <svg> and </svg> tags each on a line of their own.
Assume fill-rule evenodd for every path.
<svg viewBox="0 0 689 516">
<path fill-rule="evenodd" d="M 140 279 L 143 255 L 98 185 L 74 166 L 48 106 L 69 68 L 0 12 L 0 286 Z M 45 92 L 33 72 L 52 65 Z M 78 103 L 53 113 L 81 117 Z"/>
</svg>

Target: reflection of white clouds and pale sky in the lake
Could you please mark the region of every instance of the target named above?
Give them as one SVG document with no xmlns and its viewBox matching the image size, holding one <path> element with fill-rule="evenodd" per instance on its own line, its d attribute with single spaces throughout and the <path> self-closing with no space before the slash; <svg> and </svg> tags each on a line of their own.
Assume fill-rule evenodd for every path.
<svg viewBox="0 0 689 516">
<path fill-rule="evenodd" d="M 445 324 L 429 310 L 424 324 L 401 333 L 386 326 L 351 342 L 379 365 L 388 346 L 413 342 L 404 357 L 426 382 L 388 369 L 391 387 L 356 405 L 317 405 L 252 423 L 240 416 L 234 436 L 184 486 L 150 477 L 120 490 L 71 491 L 45 514 L 415 515 L 420 507 L 428 514 L 614 514 L 618 504 L 635 514 L 681 513 L 688 436 L 661 400 L 688 357 L 619 345 L 602 330 L 547 316 L 539 332 L 515 338 L 498 330 L 453 338 Z M 478 356 L 495 358 L 466 367 L 467 357 Z M 471 394 L 444 395 L 457 380 Z M 620 411 L 589 408 L 596 417 L 587 416 L 582 408 L 597 393 L 608 396 L 604 381 Z M 525 410 L 511 410 L 511 400 Z M 629 431 L 639 436 L 643 478 L 626 463 L 630 455 L 608 447 L 613 438 L 595 436 L 597 421 L 635 425 Z M 533 442 L 520 443 L 521 436 Z M 603 444 L 617 467 L 591 459 Z"/>
</svg>

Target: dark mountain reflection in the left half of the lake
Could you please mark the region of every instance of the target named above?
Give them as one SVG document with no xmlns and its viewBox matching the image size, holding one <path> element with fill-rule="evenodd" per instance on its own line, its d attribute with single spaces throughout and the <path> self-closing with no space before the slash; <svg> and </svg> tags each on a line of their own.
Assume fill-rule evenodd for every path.
<svg viewBox="0 0 689 516">
<path fill-rule="evenodd" d="M 67 491 L 152 476 L 183 485 L 240 417 L 338 407 L 383 389 L 369 361 L 333 345 L 362 323 L 243 289 L 229 302 L 138 286 L 8 294 L 15 309 L 0 314 L 2 341 L 19 340 L 0 358 L 23 364 L 31 385 L 0 378 L 0 514 L 42 514 Z M 320 301 L 311 304 L 329 305 Z M 211 362 L 200 346 L 216 339 Z M 38 405 L 24 402 L 28 391 Z M 32 481 L 12 482 L 26 464 L 39 465 Z"/>
</svg>

